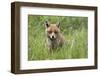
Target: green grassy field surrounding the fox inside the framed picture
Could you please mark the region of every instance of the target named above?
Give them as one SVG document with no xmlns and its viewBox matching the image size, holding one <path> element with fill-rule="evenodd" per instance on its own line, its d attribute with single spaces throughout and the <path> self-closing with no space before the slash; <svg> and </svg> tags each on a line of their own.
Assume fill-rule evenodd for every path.
<svg viewBox="0 0 100 76">
<path fill-rule="evenodd" d="M 60 22 L 67 44 L 50 53 L 45 46 L 44 22 Z M 28 60 L 79 59 L 88 56 L 88 18 L 71 16 L 28 16 Z"/>
</svg>

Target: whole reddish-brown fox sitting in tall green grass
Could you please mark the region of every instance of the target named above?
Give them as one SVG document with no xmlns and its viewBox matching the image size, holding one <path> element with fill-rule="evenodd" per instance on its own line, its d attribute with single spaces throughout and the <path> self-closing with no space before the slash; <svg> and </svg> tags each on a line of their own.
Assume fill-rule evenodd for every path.
<svg viewBox="0 0 100 76">
<path fill-rule="evenodd" d="M 48 21 L 45 22 L 47 45 L 50 51 L 64 45 L 65 39 L 60 32 L 59 25 L 59 23 L 50 24 Z"/>
</svg>

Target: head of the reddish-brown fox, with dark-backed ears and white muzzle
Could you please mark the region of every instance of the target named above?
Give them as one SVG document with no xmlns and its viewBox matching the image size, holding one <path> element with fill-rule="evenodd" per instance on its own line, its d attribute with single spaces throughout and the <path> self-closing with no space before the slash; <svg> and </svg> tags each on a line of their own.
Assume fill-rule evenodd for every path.
<svg viewBox="0 0 100 76">
<path fill-rule="evenodd" d="M 60 28 L 59 28 L 59 23 L 56 24 L 50 24 L 49 22 L 45 22 L 45 27 L 46 27 L 46 33 L 47 37 L 50 40 L 55 40 L 57 39 L 59 33 L 60 33 Z"/>
</svg>

